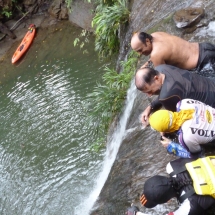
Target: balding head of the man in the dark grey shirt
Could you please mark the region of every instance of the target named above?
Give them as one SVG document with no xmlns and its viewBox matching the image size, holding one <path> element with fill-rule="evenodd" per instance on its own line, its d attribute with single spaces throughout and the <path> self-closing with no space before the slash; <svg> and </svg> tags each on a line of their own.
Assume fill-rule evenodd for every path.
<svg viewBox="0 0 215 215">
<path fill-rule="evenodd" d="M 159 95 L 162 82 L 161 73 L 153 68 L 141 68 L 135 75 L 135 85 L 137 89 L 148 94 L 148 96 Z"/>
</svg>

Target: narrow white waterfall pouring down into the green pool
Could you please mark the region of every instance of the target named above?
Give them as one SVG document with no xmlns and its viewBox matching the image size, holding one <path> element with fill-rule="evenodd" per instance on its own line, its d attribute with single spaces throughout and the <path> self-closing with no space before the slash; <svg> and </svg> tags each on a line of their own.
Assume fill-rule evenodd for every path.
<svg viewBox="0 0 215 215">
<path fill-rule="evenodd" d="M 110 143 L 108 143 L 108 147 L 107 147 L 104 162 L 103 162 L 103 167 L 99 176 L 96 179 L 94 190 L 90 193 L 89 197 L 83 200 L 82 203 L 78 205 L 77 208 L 75 208 L 75 215 L 80 215 L 80 214 L 89 215 L 90 210 L 95 204 L 108 178 L 111 167 L 116 159 L 119 147 L 126 133 L 126 124 L 130 116 L 130 112 L 132 110 L 135 97 L 136 97 L 136 87 L 133 80 L 131 82 L 130 88 L 127 91 L 127 98 L 126 98 L 123 114 L 119 120 L 117 128 L 113 133 Z"/>
</svg>

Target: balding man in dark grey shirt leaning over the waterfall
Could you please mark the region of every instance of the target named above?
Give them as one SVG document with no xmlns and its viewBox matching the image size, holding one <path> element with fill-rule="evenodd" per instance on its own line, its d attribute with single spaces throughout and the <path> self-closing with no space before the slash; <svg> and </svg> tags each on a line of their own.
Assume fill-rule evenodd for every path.
<svg viewBox="0 0 215 215">
<path fill-rule="evenodd" d="M 176 111 L 176 104 L 186 98 L 195 99 L 215 108 L 215 79 L 209 79 L 170 65 L 159 65 L 155 69 L 145 67 L 135 74 L 135 85 L 148 96 L 158 95 L 144 110 L 141 121 L 148 125 L 149 115 L 162 106 Z"/>
</svg>

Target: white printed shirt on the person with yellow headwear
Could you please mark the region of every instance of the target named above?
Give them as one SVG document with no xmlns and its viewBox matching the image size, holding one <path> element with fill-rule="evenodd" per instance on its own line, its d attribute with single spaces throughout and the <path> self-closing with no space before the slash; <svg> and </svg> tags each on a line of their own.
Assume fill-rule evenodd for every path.
<svg viewBox="0 0 215 215">
<path fill-rule="evenodd" d="M 177 110 L 195 109 L 193 118 L 185 121 L 179 133 L 179 142 L 185 143 L 190 152 L 198 152 L 201 147 L 215 139 L 215 109 L 193 99 L 183 99 Z"/>
</svg>

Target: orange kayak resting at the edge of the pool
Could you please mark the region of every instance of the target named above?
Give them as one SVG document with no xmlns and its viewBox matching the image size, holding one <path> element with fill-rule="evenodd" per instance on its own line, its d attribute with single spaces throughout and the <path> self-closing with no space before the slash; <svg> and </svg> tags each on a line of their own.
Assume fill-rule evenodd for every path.
<svg viewBox="0 0 215 215">
<path fill-rule="evenodd" d="M 31 43 L 34 39 L 35 33 L 36 33 L 35 28 L 36 28 L 36 26 L 34 24 L 31 24 L 29 26 L 28 32 L 26 33 L 21 44 L 19 45 L 19 47 L 17 48 L 17 50 L 13 54 L 12 63 L 17 62 L 21 58 L 21 56 L 27 51 L 29 46 L 31 45 Z"/>
</svg>

